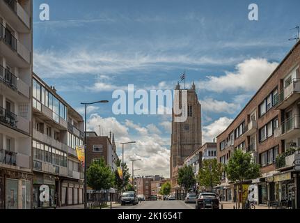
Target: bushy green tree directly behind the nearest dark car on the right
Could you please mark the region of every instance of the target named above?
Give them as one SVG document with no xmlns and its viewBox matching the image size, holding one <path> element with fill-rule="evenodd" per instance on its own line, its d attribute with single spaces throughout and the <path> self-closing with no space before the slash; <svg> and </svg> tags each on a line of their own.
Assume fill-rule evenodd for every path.
<svg viewBox="0 0 300 223">
<path fill-rule="evenodd" d="M 197 176 L 197 182 L 202 187 L 211 187 L 221 183 L 223 167 L 216 159 L 204 160 Z"/>
</svg>

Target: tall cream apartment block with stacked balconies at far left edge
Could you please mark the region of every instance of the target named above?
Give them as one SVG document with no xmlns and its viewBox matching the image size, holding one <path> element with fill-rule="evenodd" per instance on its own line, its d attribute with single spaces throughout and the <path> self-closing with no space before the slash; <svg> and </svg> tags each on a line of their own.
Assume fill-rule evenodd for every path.
<svg viewBox="0 0 300 223">
<path fill-rule="evenodd" d="M 32 207 L 32 1 L 0 1 L 0 209 Z"/>
</svg>

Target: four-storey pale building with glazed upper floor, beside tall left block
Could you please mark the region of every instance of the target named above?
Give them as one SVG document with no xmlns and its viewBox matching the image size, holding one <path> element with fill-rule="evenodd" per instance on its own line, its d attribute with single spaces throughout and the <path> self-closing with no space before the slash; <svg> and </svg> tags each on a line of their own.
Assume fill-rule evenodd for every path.
<svg viewBox="0 0 300 223">
<path fill-rule="evenodd" d="M 84 169 L 76 146 L 84 140 L 84 120 L 53 86 L 33 74 L 33 208 L 84 202 Z M 40 201 L 42 187 L 49 201 Z"/>
</svg>

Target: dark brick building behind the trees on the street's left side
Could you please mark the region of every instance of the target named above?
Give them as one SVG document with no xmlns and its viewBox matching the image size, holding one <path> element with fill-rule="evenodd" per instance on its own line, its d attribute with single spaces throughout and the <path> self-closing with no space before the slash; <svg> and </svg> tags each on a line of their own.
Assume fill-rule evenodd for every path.
<svg viewBox="0 0 300 223">
<path fill-rule="evenodd" d="M 99 137 L 96 132 L 87 132 L 86 135 L 87 167 L 89 167 L 94 160 L 100 160 L 100 158 L 104 158 L 106 165 L 111 167 L 111 171 L 116 171 L 118 155 L 114 134 L 111 134 L 110 132 L 109 137 Z"/>
</svg>

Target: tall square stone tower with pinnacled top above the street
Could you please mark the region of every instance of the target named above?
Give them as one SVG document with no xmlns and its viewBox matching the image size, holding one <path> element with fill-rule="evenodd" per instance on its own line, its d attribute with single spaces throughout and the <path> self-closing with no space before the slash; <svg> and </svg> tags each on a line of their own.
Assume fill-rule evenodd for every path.
<svg viewBox="0 0 300 223">
<path fill-rule="evenodd" d="M 175 90 L 182 93 L 185 89 L 180 89 L 180 84 L 177 84 Z M 172 120 L 170 175 L 172 191 L 177 199 L 181 197 L 180 187 L 177 185 L 177 171 L 184 164 L 184 160 L 202 146 L 201 105 L 195 84 L 187 90 L 186 109 L 187 121 L 175 122 L 174 111 Z"/>
</svg>

